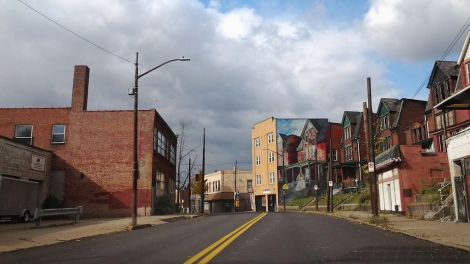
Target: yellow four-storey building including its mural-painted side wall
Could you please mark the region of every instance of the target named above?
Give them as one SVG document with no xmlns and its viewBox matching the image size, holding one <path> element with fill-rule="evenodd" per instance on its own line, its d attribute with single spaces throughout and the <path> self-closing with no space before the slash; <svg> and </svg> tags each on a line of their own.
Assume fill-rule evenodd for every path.
<svg viewBox="0 0 470 264">
<path fill-rule="evenodd" d="M 256 210 L 278 211 L 286 200 L 312 195 L 314 185 L 325 192 L 330 159 L 332 180 L 340 182 L 341 135 L 341 125 L 324 118 L 271 117 L 255 124 L 251 138 Z"/>
</svg>

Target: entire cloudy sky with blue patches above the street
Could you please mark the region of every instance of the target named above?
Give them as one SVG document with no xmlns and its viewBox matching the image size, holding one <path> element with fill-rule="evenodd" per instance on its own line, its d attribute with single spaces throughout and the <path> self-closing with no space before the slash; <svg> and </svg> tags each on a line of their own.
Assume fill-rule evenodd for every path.
<svg viewBox="0 0 470 264">
<path fill-rule="evenodd" d="M 73 66 L 86 64 L 89 109 L 132 109 L 136 51 L 142 70 L 186 56 L 141 79 L 140 108 L 176 133 L 187 122 L 198 164 L 205 127 L 207 171 L 250 168 L 251 127 L 265 118 L 340 122 L 362 108 L 367 77 L 375 105 L 411 98 L 470 14 L 466 0 L 22 1 L 125 60 L 0 0 L 0 107 L 69 106 Z"/>
</svg>

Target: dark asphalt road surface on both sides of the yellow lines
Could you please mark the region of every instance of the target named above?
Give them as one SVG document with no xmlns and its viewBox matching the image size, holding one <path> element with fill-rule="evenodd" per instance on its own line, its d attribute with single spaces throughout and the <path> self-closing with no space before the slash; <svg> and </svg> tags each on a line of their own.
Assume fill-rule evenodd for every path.
<svg viewBox="0 0 470 264">
<path fill-rule="evenodd" d="M 183 263 L 259 214 L 184 220 L 0 254 L 0 263 Z M 215 253 L 214 253 L 215 254 Z M 268 214 L 211 263 L 470 263 L 470 253 L 313 214 Z"/>
</svg>

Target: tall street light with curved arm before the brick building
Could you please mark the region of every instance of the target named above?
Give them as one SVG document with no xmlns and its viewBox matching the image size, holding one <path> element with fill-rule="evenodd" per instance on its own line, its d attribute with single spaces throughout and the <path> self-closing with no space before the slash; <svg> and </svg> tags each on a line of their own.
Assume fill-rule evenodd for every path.
<svg viewBox="0 0 470 264">
<path fill-rule="evenodd" d="M 137 180 L 139 179 L 139 161 L 137 160 L 137 113 L 139 102 L 139 79 L 148 73 L 162 67 L 173 61 L 189 61 L 189 58 L 181 57 L 179 59 L 172 59 L 166 61 L 142 74 L 139 74 L 139 53 L 135 56 L 135 75 L 134 75 L 134 89 L 129 92 L 129 95 L 134 96 L 134 145 L 133 145 L 133 168 L 132 168 L 132 226 L 137 224 Z"/>
</svg>

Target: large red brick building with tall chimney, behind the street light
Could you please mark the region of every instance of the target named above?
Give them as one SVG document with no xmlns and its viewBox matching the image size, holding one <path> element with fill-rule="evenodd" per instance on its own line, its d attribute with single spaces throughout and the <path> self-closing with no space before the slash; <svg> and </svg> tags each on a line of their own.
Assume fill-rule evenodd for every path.
<svg viewBox="0 0 470 264">
<path fill-rule="evenodd" d="M 132 111 L 88 111 L 87 66 L 75 66 L 72 105 L 0 109 L 0 135 L 53 153 L 53 193 L 85 216 L 131 214 Z M 162 209 L 157 197 L 174 196 L 176 136 L 155 109 L 138 113 L 138 213 Z M 168 200 L 168 199 L 167 199 Z M 170 198 L 173 201 L 174 198 Z"/>
</svg>

